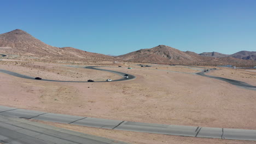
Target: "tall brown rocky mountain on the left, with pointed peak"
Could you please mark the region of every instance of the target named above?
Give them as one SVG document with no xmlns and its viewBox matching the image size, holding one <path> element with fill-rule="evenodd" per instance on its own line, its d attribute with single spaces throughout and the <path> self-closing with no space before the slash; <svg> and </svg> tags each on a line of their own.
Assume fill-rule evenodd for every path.
<svg viewBox="0 0 256 144">
<path fill-rule="evenodd" d="M 53 59 L 91 59 L 112 60 L 113 57 L 99 53 L 86 52 L 73 47 L 54 47 L 43 43 L 21 29 L 0 34 L 0 53 L 51 57 Z"/>
</svg>

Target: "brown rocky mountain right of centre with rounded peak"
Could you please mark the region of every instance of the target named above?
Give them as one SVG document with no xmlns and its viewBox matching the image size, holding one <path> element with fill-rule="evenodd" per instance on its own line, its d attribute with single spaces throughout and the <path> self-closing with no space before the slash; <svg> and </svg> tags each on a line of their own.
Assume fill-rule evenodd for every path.
<svg viewBox="0 0 256 144">
<path fill-rule="evenodd" d="M 129 62 L 143 62 L 143 63 L 165 63 L 165 64 L 191 64 L 191 65 L 247 65 L 244 59 L 233 57 L 212 57 L 201 56 L 191 51 L 179 51 L 173 47 L 166 45 L 159 45 L 152 49 L 141 49 L 118 56 Z"/>
</svg>

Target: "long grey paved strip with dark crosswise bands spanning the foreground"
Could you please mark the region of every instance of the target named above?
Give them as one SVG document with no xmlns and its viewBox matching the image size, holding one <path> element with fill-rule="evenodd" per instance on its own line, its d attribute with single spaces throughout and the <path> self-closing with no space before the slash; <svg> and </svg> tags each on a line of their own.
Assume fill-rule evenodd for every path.
<svg viewBox="0 0 256 144">
<path fill-rule="evenodd" d="M 16 109 L 13 107 L 5 107 L 5 106 L 0 106 L 0 116 L 1 115 L 11 116 L 16 118 L 38 119 L 41 121 L 83 125 L 86 127 L 138 131 L 143 133 L 256 141 L 256 130 L 190 127 L 190 126 L 183 126 L 183 125 L 167 125 L 167 124 L 154 124 L 154 123 L 138 123 L 138 122 L 119 121 L 119 120 L 112 120 L 112 119 L 62 115 L 62 114 L 48 113 L 48 112 L 42 112 L 42 111 Z M 0 124 L 0 128 L 1 128 L 1 124 Z M 0 131 L 2 130 L 0 129 Z M 3 134 L 0 133 L 0 140 L 1 140 L 1 135 Z"/>
</svg>

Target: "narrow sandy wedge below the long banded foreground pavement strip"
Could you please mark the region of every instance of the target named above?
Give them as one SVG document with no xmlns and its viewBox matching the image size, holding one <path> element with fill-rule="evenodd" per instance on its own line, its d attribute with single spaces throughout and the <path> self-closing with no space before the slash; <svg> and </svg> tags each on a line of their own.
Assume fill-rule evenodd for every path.
<svg viewBox="0 0 256 144">
<path fill-rule="evenodd" d="M 33 120 L 36 121 L 36 120 Z M 41 122 L 44 124 L 53 125 L 55 127 L 61 127 L 65 129 L 71 129 L 74 131 L 79 131 L 86 134 L 97 135 L 102 137 L 107 137 L 114 140 L 120 140 L 129 143 L 141 143 L 141 144 L 166 144 L 166 143 L 179 143 L 179 144 L 238 144 L 238 143 L 256 143 L 255 141 L 242 141 L 242 140 L 221 140 L 221 139 L 207 139 L 199 137 L 187 137 L 187 136 L 173 136 L 173 135 L 161 135 L 161 134 L 149 134 L 149 133 L 138 133 L 132 131 L 122 131 L 122 130 L 113 130 L 113 129 L 99 129 L 99 128 L 90 128 L 82 127 L 78 125 L 70 124 L 60 124 L 60 123 L 51 123 L 51 122 Z M 131 139 L 132 137 L 132 139 Z"/>
</svg>

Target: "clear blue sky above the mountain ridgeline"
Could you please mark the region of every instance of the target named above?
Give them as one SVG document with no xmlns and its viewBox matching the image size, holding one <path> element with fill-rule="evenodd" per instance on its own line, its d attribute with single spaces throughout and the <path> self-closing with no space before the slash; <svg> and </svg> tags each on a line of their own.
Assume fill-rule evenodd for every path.
<svg viewBox="0 0 256 144">
<path fill-rule="evenodd" d="M 111 55 L 157 45 L 256 51 L 256 0 L 0 0 L 0 33 Z"/>
</svg>

